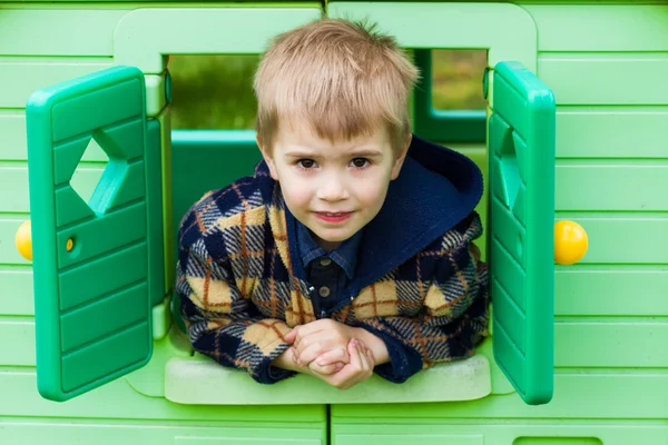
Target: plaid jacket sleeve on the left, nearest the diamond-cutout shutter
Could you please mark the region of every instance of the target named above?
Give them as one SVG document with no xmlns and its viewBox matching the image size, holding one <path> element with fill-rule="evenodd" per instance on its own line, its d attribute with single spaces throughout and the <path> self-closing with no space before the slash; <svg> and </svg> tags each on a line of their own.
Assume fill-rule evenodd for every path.
<svg viewBox="0 0 668 445">
<path fill-rule="evenodd" d="M 213 253 L 213 254 L 212 254 Z M 176 293 L 195 350 L 245 369 L 259 383 L 294 375 L 271 362 L 288 348 L 285 322 L 266 318 L 238 290 L 222 233 L 204 234 L 185 218 L 179 231 Z"/>
</svg>

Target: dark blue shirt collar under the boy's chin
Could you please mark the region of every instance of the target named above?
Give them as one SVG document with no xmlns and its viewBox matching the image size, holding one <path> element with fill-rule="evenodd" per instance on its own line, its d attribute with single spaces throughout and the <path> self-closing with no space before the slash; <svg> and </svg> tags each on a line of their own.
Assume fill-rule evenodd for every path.
<svg viewBox="0 0 668 445">
<path fill-rule="evenodd" d="M 336 263 L 345 271 L 348 279 L 353 279 L 355 266 L 357 264 L 357 248 L 362 239 L 362 229 L 341 243 L 336 249 L 327 253 L 313 239 L 313 236 L 306 226 L 299 221 L 295 222 L 297 229 L 297 247 L 305 269 L 314 259 L 326 257 Z"/>
</svg>

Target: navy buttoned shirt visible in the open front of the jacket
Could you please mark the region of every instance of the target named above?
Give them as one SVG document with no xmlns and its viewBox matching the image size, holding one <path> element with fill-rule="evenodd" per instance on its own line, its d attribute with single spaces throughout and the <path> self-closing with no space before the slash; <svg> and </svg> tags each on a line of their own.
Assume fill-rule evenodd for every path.
<svg viewBox="0 0 668 445">
<path fill-rule="evenodd" d="M 311 235 L 306 226 L 296 222 L 297 247 L 306 279 L 313 286 L 311 300 L 317 318 L 327 317 L 346 298 L 345 288 L 355 276 L 357 248 L 363 230 L 331 251 L 323 249 Z"/>
</svg>

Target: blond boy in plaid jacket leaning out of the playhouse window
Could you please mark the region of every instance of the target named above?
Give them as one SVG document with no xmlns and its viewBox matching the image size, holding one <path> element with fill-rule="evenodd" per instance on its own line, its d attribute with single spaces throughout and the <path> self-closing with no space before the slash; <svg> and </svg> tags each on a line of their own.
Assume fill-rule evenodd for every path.
<svg viewBox="0 0 668 445">
<path fill-rule="evenodd" d="M 196 350 L 261 383 L 305 373 L 344 389 L 473 354 L 482 178 L 411 135 L 416 77 L 364 24 L 322 19 L 273 41 L 255 78 L 263 161 L 181 221 L 176 289 Z"/>
</svg>

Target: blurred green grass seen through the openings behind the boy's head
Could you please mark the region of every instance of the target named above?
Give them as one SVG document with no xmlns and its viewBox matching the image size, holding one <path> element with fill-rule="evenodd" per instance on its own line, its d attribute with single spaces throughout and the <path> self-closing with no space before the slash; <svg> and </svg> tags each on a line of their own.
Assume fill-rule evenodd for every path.
<svg viewBox="0 0 668 445">
<path fill-rule="evenodd" d="M 253 129 L 256 100 L 253 76 L 259 57 L 171 56 L 173 128 Z M 434 50 L 433 106 L 484 109 L 484 50 Z"/>
</svg>

